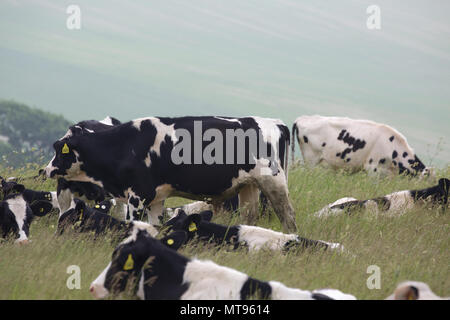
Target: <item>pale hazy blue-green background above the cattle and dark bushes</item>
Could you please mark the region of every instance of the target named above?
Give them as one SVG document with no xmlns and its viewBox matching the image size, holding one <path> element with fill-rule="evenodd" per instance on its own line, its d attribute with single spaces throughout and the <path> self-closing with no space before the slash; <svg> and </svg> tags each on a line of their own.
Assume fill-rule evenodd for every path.
<svg viewBox="0 0 450 320">
<path fill-rule="evenodd" d="M 66 28 L 70 4 L 81 30 Z M 371 4 L 381 30 L 366 27 Z M 1 0 L 0 99 L 74 122 L 368 118 L 447 164 L 449 12 L 438 0 Z"/>
</svg>

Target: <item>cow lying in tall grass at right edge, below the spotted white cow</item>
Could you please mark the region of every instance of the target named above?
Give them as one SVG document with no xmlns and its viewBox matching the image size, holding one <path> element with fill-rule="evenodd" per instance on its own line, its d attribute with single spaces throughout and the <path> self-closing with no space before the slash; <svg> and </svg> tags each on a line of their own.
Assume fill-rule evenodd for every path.
<svg viewBox="0 0 450 320">
<path fill-rule="evenodd" d="M 369 200 L 357 200 L 355 198 L 345 197 L 325 206 L 314 213 L 314 215 L 316 217 L 327 217 L 342 213 L 351 214 L 361 210 L 373 210 L 377 213 L 400 215 L 407 210 L 427 204 L 431 204 L 432 206 L 443 205 L 445 208 L 448 203 L 449 189 L 450 180 L 442 178 L 433 187 L 420 190 L 396 191 L 384 197 Z"/>
</svg>

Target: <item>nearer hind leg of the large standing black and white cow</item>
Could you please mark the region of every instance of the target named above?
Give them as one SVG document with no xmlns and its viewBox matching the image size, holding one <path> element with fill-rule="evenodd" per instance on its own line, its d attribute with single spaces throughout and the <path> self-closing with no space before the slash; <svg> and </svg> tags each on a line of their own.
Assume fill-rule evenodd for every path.
<svg viewBox="0 0 450 320">
<path fill-rule="evenodd" d="M 256 178 L 259 188 L 270 200 L 272 207 L 280 219 L 285 232 L 297 232 L 295 224 L 295 212 L 289 200 L 284 172 L 277 175 L 260 175 Z"/>
</svg>

